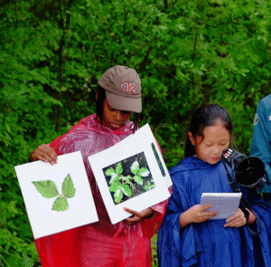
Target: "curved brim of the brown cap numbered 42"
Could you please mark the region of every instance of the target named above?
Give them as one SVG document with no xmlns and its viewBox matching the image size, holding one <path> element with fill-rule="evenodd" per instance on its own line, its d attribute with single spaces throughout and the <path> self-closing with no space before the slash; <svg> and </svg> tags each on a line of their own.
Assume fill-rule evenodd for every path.
<svg viewBox="0 0 271 267">
<path fill-rule="evenodd" d="M 140 113 L 142 111 L 141 98 L 125 98 L 106 91 L 109 105 L 116 110 L 127 110 Z"/>
</svg>

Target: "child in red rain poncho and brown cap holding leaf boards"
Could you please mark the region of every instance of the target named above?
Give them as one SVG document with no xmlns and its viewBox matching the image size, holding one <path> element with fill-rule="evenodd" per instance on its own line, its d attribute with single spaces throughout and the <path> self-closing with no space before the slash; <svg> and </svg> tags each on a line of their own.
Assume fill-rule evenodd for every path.
<svg viewBox="0 0 271 267">
<path fill-rule="evenodd" d="M 97 114 L 68 133 L 36 148 L 30 161 L 57 164 L 57 155 L 80 150 L 98 212 L 98 223 L 35 240 L 42 267 L 145 267 L 152 265 L 150 239 L 162 224 L 167 201 L 111 224 L 88 157 L 115 145 L 139 127 L 141 81 L 135 70 L 114 66 L 98 81 Z M 134 112 L 134 121 L 128 120 Z"/>
</svg>

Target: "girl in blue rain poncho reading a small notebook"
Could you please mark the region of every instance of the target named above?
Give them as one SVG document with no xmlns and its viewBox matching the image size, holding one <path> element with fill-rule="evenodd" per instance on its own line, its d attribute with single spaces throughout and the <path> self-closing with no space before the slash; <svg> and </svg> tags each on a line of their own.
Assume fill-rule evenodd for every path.
<svg viewBox="0 0 271 267">
<path fill-rule="evenodd" d="M 257 236 L 249 233 L 241 209 L 227 220 L 210 220 L 217 212 L 200 205 L 202 193 L 232 193 L 221 160 L 231 129 L 229 113 L 219 105 L 204 105 L 193 114 L 185 158 L 170 170 L 173 195 L 158 234 L 161 267 L 271 266 L 271 210 L 254 188 L 240 186 L 251 206 L 248 224 L 262 229 Z"/>
</svg>

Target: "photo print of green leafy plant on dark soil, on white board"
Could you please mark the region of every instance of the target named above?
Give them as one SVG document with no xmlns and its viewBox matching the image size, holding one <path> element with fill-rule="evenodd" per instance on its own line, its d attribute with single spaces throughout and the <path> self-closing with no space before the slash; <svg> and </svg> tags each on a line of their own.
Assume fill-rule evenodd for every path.
<svg viewBox="0 0 271 267">
<path fill-rule="evenodd" d="M 154 179 L 149 169 L 144 152 L 103 168 L 115 205 L 154 189 Z"/>
</svg>

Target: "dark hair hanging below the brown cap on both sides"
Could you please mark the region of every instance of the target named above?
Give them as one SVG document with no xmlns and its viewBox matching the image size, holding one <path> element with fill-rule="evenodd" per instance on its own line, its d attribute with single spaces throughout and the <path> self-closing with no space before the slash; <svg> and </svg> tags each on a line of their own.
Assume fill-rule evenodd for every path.
<svg viewBox="0 0 271 267">
<path fill-rule="evenodd" d="M 106 91 L 98 85 L 97 89 L 97 100 L 96 100 L 96 119 L 103 120 L 103 110 L 104 110 L 104 102 L 106 99 Z M 139 121 L 140 121 L 140 114 L 137 112 L 134 113 L 134 119 L 132 120 L 134 123 L 134 129 L 133 132 L 135 132 L 136 129 L 139 129 Z"/>
</svg>

